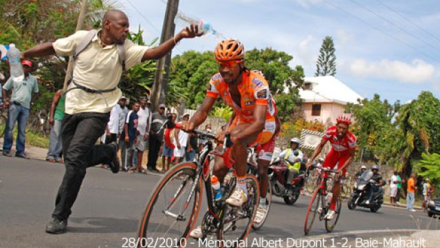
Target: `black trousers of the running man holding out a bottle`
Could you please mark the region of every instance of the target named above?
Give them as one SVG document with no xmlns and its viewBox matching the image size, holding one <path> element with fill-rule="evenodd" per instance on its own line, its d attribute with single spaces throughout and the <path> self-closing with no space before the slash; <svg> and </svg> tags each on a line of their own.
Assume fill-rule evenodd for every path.
<svg viewBox="0 0 440 248">
<path fill-rule="evenodd" d="M 66 170 L 56 195 L 52 217 L 58 220 L 69 218 L 87 167 L 110 163 L 115 155 L 111 146 L 95 145 L 104 134 L 109 116 L 109 113 L 94 112 L 64 115 L 61 138 Z"/>
</svg>

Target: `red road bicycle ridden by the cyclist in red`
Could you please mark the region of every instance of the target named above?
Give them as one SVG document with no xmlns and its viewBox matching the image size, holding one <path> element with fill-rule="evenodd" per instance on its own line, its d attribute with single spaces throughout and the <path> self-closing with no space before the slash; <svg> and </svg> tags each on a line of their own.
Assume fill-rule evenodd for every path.
<svg viewBox="0 0 440 248">
<path fill-rule="evenodd" d="M 312 165 L 313 166 L 313 165 Z M 316 167 L 320 169 L 320 184 L 319 187 L 315 189 L 314 194 L 311 196 L 309 207 L 307 208 L 307 213 L 305 215 L 305 223 L 304 223 L 304 234 L 309 234 L 311 227 L 314 225 L 314 220 L 318 215 L 318 219 L 325 220 L 325 229 L 327 232 L 333 231 L 336 227 L 336 223 L 338 223 L 338 219 L 341 212 L 342 206 L 342 198 L 339 196 L 336 200 L 336 216 L 333 219 L 327 220 L 325 219 L 325 215 L 330 209 L 331 203 L 331 194 L 328 194 L 328 189 L 331 189 L 329 185 L 327 185 L 327 178 L 329 173 L 336 173 L 336 170 L 329 169 L 326 167 Z"/>
</svg>

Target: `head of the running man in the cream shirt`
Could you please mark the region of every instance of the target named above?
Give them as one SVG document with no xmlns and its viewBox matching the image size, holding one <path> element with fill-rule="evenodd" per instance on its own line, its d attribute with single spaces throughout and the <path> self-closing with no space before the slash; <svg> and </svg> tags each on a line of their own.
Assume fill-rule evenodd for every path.
<svg viewBox="0 0 440 248">
<path fill-rule="evenodd" d="M 102 19 L 102 34 L 106 44 L 122 44 L 128 33 L 129 18 L 126 14 L 120 10 L 107 10 Z"/>
</svg>

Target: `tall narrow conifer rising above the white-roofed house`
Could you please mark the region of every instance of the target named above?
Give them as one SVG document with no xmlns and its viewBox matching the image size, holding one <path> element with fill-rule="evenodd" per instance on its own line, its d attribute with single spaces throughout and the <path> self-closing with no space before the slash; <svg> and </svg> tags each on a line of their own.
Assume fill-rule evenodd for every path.
<svg viewBox="0 0 440 248">
<path fill-rule="evenodd" d="M 333 39 L 329 36 L 322 41 L 320 55 L 316 62 L 315 76 L 335 76 L 336 74 L 336 48 Z"/>
</svg>

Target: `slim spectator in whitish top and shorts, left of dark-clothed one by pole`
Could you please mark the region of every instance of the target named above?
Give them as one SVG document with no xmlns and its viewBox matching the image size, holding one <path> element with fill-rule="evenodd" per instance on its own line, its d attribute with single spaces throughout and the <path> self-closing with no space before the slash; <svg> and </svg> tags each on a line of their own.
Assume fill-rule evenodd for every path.
<svg viewBox="0 0 440 248">
<path fill-rule="evenodd" d="M 144 167 L 142 167 L 142 158 L 144 156 L 144 150 L 146 146 L 146 141 L 148 140 L 148 133 L 150 132 L 150 109 L 146 107 L 148 99 L 143 96 L 140 99 L 140 108 L 137 111 L 137 116 L 139 117 L 137 122 L 137 172 L 144 172 Z"/>
</svg>

